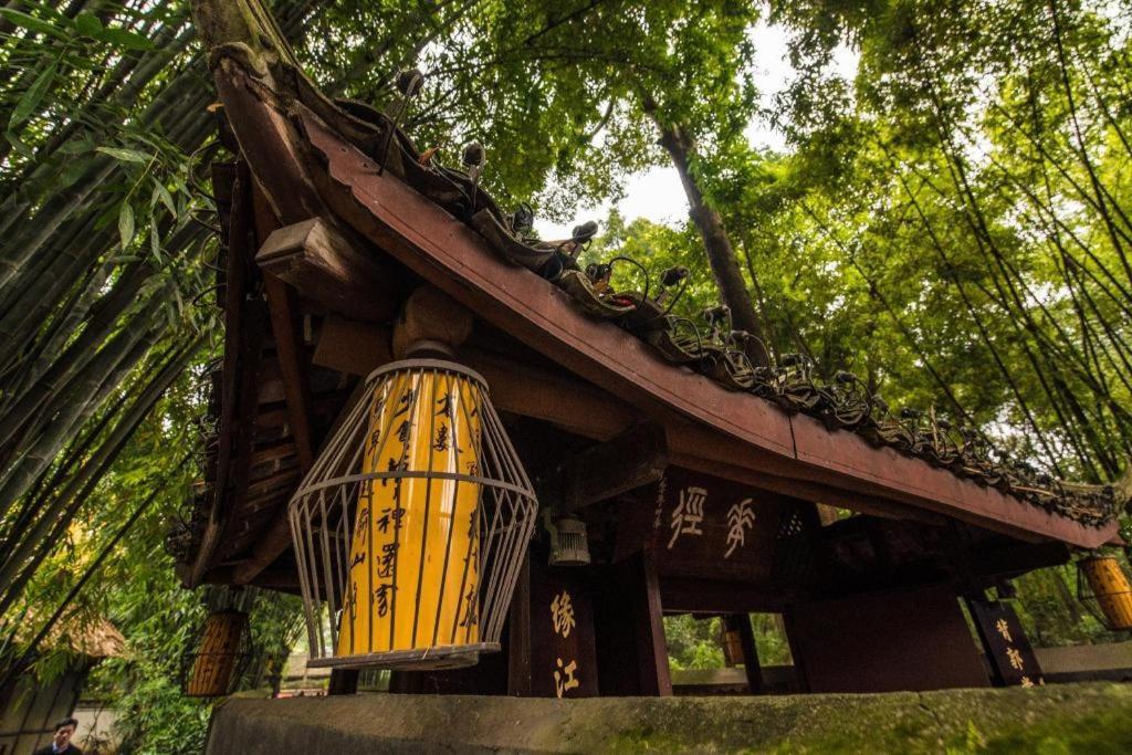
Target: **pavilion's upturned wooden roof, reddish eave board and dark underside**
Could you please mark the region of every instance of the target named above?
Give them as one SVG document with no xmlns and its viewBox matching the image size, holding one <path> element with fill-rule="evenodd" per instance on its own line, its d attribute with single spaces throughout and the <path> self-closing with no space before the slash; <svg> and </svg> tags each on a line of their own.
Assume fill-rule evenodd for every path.
<svg viewBox="0 0 1132 755">
<path fill-rule="evenodd" d="M 224 177 L 235 188 L 225 195 L 218 435 L 209 492 L 182 554 L 187 582 L 289 586 L 273 582 L 278 567 L 268 568 L 286 558 L 286 499 L 358 377 L 392 360 L 387 320 L 421 281 L 484 326 L 461 358 L 484 375 L 504 411 L 594 440 L 646 422 L 662 429 L 672 464 L 866 513 L 953 518 L 1084 548 L 1115 537 L 1115 522 L 1082 524 L 728 391 L 585 316 L 559 288 L 508 263 L 414 190 L 402 171 L 377 165 L 372 125 L 314 89 L 269 28 L 251 34 L 247 18 L 238 20 L 201 25 L 242 166 Z M 261 250 L 281 228 L 302 237 L 323 226 L 349 249 L 331 243 L 333 259 L 282 267 L 280 248 L 293 238 L 277 235 L 274 251 Z"/>
</svg>

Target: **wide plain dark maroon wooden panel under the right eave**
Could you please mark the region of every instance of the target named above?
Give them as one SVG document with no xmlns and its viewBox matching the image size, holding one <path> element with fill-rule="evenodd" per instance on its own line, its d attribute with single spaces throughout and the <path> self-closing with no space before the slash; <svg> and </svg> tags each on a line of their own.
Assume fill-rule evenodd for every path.
<svg viewBox="0 0 1132 755">
<path fill-rule="evenodd" d="M 796 603 L 784 618 L 804 690 L 989 686 L 949 585 Z"/>
</svg>

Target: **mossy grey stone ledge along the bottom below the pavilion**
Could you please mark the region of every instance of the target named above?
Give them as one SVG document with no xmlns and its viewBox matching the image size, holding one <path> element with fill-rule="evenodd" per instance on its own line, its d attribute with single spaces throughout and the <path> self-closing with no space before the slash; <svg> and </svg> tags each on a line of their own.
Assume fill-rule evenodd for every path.
<svg viewBox="0 0 1132 755">
<path fill-rule="evenodd" d="M 1132 686 L 787 697 L 231 700 L 224 753 L 1132 753 Z"/>
</svg>

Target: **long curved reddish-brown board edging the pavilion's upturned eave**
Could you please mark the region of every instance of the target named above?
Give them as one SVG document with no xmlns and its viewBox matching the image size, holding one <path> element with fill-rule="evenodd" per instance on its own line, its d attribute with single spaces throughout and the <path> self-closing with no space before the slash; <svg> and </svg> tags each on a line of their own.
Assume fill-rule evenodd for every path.
<svg viewBox="0 0 1132 755">
<path fill-rule="evenodd" d="M 797 486 L 808 491 L 800 497 L 850 508 L 860 496 L 898 516 L 942 514 L 1023 539 L 1095 548 L 1115 537 L 1115 522 L 1084 526 L 672 367 L 627 332 L 586 318 L 551 283 L 505 263 L 301 103 L 284 108 L 264 81 L 231 61 L 224 68 L 217 83 L 232 127 L 265 191 L 290 205 L 276 206 L 284 223 L 305 220 L 297 205 L 328 208 L 479 317 L 662 422 L 674 463 L 772 489 Z"/>
</svg>

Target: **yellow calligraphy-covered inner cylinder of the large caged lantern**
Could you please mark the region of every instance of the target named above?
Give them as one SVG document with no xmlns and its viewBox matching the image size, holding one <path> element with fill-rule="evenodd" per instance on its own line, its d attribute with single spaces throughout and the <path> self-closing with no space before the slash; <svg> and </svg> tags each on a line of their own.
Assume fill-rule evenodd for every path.
<svg viewBox="0 0 1132 755">
<path fill-rule="evenodd" d="M 480 486 L 437 474 L 478 473 L 479 411 L 479 387 L 444 372 L 402 372 L 371 397 L 363 473 L 428 477 L 361 483 L 336 655 L 478 642 Z"/>
</svg>

